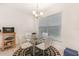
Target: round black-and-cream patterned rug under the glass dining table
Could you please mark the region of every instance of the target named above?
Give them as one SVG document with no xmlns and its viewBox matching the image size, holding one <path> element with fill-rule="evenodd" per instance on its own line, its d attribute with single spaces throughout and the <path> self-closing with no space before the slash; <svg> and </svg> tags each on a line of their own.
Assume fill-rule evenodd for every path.
<svg viewBox="0 0 79 59">
<path fill-rule="evenodd" d="M 26 49 L 19 48 L 14 52 L 13 56 L 33 56 L 33 47 Z M 43 56 L 43 50 L 35 47 L 35 56 Z M 44 56 L 60 56 L 60 53 L 56 48 L 50 46 L 44 50 Z"/>
</svg>

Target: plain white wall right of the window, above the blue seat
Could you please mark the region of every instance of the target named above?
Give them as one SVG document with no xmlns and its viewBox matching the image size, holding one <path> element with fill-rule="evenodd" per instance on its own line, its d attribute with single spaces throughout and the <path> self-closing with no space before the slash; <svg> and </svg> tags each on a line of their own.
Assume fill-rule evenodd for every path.
<svg viewBox="0 0 79 59">
<path fill-rule="evenodd" d="M 53 42 L 53 45 L 79 51 L 79 4 L 58 4 L 54 10 L 53 7 L 51 9 L 49 15 L 62 13 L 61 42 Z"/>
</svg>

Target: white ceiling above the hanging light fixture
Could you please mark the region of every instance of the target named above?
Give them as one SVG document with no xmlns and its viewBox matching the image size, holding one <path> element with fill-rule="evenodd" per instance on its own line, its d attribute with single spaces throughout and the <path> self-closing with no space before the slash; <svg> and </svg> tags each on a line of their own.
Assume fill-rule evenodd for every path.
<svg viewBox="0 0 79 59">
<path fill-rule="evenodd" d="M 44 13 L 50 10 L 58 10 L 60 4 L 55 3 L 38 3 L 38 11 L 42 11 Z M 36 10 L 37 3 L 0 3 L 0 6 L 5 6 L 11 9 L 15 9 L 21 11 L 22 13 L 33 15 L 32 11 Z M 61 8 L 59 8 L 61 9 Z"/>
</svg>

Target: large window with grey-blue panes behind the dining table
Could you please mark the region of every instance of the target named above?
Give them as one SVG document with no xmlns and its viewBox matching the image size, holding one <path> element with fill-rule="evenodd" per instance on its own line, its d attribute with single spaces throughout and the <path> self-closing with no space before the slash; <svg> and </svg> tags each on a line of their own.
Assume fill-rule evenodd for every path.
<svg viewBox="0 0 79 59">
<path fill-rule="evenodd" d="M 61 31 L 61 13 L 49 15 L 39 20 L 39 35 L 48 33 L 49 37 L 57 38 L 60 36 Z"/>
</svg>

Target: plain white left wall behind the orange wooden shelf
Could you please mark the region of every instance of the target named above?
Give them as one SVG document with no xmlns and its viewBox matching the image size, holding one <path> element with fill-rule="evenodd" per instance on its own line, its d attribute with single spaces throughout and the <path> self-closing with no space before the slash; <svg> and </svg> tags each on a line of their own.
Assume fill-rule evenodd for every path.
<svg viewBox="0 0 79 59">
<path fill-rule="evenodd" d="M 15 27 L 16 42 L 22 42 L 21 39 L 26 32 L 34 31 L 33 17 L 19 9 L 7 7 L 5 5 L 0 6 L 0 29 L 6 26 Z M 0 39 L 0 44 L 2 39 Z"/>
</svg>

